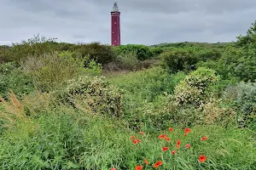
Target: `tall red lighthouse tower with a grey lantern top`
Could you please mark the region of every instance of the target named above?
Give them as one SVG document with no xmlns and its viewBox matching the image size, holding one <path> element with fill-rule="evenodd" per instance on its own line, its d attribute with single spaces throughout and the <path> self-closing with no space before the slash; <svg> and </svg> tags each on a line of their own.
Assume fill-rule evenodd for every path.
<svg viewBox="0 0 256 170">
<path fill-rule="evenodd" d="M 111 44 L 119 46 L 120 39 L 120 12 L 117 3 L 113 3 L 113 11 L 111 12 Z"/>
</svg>

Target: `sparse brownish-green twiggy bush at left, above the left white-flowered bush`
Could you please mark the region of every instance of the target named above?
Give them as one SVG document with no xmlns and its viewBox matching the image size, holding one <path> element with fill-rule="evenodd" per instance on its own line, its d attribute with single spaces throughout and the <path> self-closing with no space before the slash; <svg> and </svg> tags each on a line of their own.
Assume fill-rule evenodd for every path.
<svg viewBox="0 0 256 170">
<path fill-rule="evenodd" d="M 31 56 L 20 65 L 42 91 L 60 87 L 61 82 L 85 73 L 84 59 L 73 58 L 69 54 L 43 54 L 39 58 Z"/>
</svg>

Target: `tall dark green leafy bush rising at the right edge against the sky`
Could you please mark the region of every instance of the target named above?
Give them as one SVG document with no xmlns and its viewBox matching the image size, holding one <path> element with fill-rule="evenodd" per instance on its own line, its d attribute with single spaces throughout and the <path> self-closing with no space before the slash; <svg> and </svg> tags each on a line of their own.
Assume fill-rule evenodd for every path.
<svg viewBox="0 0 256 170">
<path fill-rule="evenodd" d="M 221 77 L 238 77 L 241 81 L 256 80 L 256 22 L 247 30 L 247 35 L 237 37 L 235 47 L 226 48 L 224 54 L 217 62 L 207 61 L 199 63 L 218 72 Z M 238 48 L 237 48 L 238 47 Z"/>
</svg>

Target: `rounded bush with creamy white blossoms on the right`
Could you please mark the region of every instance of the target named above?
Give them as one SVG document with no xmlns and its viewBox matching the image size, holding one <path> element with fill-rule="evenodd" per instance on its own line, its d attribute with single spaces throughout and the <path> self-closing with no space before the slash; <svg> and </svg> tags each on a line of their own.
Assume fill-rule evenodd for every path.
<svg viewBox="0 0 256 170">
<path fill-rule="evenodd" d="M 218 82 L 218 79 L 216 72 L 211 69 L 201 67 L 192 71 L 175 88 L 173 96 L 175 105 L 201 105 L 206 98 L 207 88 Z"/>
</svg>

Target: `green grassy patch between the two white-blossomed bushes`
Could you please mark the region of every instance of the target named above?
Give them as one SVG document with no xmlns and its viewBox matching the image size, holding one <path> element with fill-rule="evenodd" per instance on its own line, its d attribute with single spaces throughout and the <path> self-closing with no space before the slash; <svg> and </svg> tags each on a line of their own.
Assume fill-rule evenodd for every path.
<svg viewBox="0 0 256 170">
<path fill-rule="evenodd" d="M 127 75 L 108 77 L 116 87 L 124 90 L 125 115 L 132 128 L 143 124 L 163 128 L 170 122 L 166 94 L 172 94 L 177 83 L 185 77 L 183 72 L 170 75 L 160 66 Z"/>
</svg>

